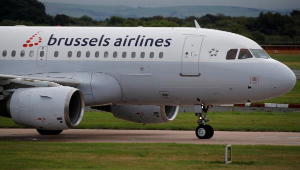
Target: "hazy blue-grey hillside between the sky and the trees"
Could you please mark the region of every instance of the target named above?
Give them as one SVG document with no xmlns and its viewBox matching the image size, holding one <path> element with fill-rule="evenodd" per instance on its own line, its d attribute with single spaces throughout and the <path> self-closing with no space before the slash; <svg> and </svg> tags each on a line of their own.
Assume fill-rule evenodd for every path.
<svg viewBox="0 0 300 170">
<path fill-rule="evenodd" d="M 281 14 L 289 14 L 292 9 L 282 10 L 266 10 L 257 8 L 235 7 L 235 6 L 170 6 L 170 7 L 128 7 L 128 6 L 109 6 L 109 5 L 82 5 L 82 4 L 66 4 L 43 2 L 46 12 L 51 15 L 66 14 L 73 17 L 87 15 L 96 20 L 104 20 L 110 16 L 120 17 L 151 17 L 174 16 L 184 18 L 187 16 L 200 17 L 207 13 L 222 13 L 227 16 L 258 16 L 260 11 L 280 12 Z"/>
</svg>

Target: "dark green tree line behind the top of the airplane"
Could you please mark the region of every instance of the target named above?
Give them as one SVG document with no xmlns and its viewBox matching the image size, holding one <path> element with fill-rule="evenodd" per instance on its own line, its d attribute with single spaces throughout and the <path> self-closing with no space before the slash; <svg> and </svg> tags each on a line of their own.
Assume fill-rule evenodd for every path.
<svg viewBox="0 0 300 170">
<path fill-rule="evenodd" d="M 0 25 L 27 26 L 153 26 L 194 27 L 196 19 L 202 28 L 229 31 L 246 36 L 259 44 L 300 45 L 300 11 L 290 15 L 260 12 L 257 17 L 232 17 L 223 14 L 206 14 L 201 17 L 141 17 L 123 18 L 111 16 L 97 21 L 89 16 L 71 17 L 65 14 L 51 16 L 43 3 L 37 0 L 1 0 Z"/>
</svg>

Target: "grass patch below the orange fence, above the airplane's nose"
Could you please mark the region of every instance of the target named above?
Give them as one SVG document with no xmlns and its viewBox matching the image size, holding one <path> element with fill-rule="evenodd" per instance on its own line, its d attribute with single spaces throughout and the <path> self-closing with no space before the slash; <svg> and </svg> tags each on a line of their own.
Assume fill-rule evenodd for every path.
<svg viewBox="0 0 300 170">
<path fill-rule="evenodd" d="M 300 54 L 270 54 L 270 57 L 282 62 L 290 69 L 300 69 Z"/>
</svg>

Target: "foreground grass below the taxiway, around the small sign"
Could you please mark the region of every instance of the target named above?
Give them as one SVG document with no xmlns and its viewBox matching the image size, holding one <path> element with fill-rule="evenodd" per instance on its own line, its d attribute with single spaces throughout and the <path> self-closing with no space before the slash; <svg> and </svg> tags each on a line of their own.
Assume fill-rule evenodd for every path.
<svg viewBox="0 0 300 170">
<path fill-rule="evenodd" d="M 300 169 L 298 146 L 0 141 L 1 170 Z"/>
</svg>

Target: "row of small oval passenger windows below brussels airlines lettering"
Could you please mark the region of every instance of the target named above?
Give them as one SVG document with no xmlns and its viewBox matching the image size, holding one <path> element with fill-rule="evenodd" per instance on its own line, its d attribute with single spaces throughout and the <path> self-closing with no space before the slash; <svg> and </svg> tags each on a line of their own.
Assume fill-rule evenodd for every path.
<svg viewBox="0 0 300 170">
<path fill-rule="evenodd" d="M 59 54 L 58 51 L 55 51 L 55 52 L 54 52 L 54 57 L 58 57 L 58 54 Z M 4 51 L 2 52 L 2 56 L 5 57 L 6 55 L 7 55 L 7 51 L 4 50 Z M 15 55 L 16 55 L 16 51 L 15 51 L 15 50 L 11 51 L 11 56 L 14 57 Z M 96 51 L 96 52 L 94 53 L 94 57 L 96 57 L 96 58 L 98 58 L 99 55 L 100 55 L 100 54 L 99 54 L 99 51 Z M 21 51 L 21 52 L 20 52 L 20 56 L 21 56 L 21 57 L 25 56 L 25 51 Z M 29 56 L 30 56 L 30 57 L 33 57 L 33 56 L 34 56 L 34 51 L 30 51 L 30 52 L 29 52 Z M 40 52 L 39 52 L 39 56 L 40 56 L 40 57 L 43 57 L 43 56 L 44 56 L 44 51 L 40 51 Z M 72 51 L 68 51 L 68 52 L 67 52 L 67 56 L 68 56 L 68 57 L 72 57 Z M 76 52 L 76 56 L 77 56 L 78 58 L 81 57 L 81 51 L 77 51 L 77 52 Z M 112 57 L 113 57 L 113 58 L 116 58 L 117 56 L 118 56 L 117 51 L 114 51 L 114 52 L 112 53 Z M 127 52 L 125 52 L 125 51 L 122 52 L 122 53 L 121 53 L 121 56 L 122 56 L 123 58 L 126 58 L 126 57 L 127 57 Z M 131 55 L 130 55 L 130 56 L 131 56 L 131 58 L 135 58 L 136 52 L 131 52 Z M 141 52 L 139 56 L 140 56 L 140 58 L 144 58 L 144 57 L 145 57 L 145 52 Z M 85 57 L 87 57 L 87 58 L 90 57 L 90 51 L 86 51 L 86 52 L 85 52 Z M 103 53 L 103 57 L 104 57 L 104 58 L 107 58 L 107 57 L 108 57 L 108 51 L 105 51 L 105 52 Z M 150 57 L 150 58 L 154 58 L 154 52 L 150 52 L 150 53 L 149 53 L 149 57 Z M 163 57 L 163 52 L 159 52 L 159 53 L 158 53 L 158 57 L 159 57 L 159 58 L 162 58 L 162 57 Z"/>
</svg>

